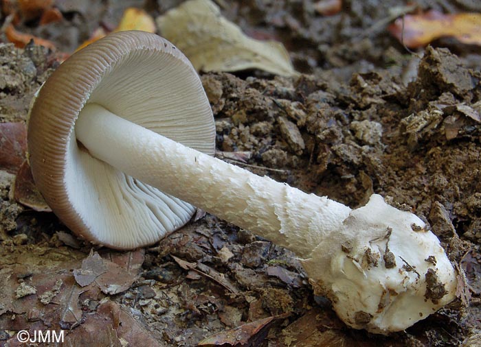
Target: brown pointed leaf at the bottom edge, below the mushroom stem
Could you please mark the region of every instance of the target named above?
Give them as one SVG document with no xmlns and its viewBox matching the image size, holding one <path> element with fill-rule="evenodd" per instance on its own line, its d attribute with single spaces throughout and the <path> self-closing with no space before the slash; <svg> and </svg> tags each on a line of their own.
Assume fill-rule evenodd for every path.
<svg viewBox="0 0 481 347">
<path fill-rule="evenodd" d="M 221 331 L 203 339 L 197 346 L 259 346 L 273 324 L 289 317 L 290 313 L 276 315 Z"/>
</svg>

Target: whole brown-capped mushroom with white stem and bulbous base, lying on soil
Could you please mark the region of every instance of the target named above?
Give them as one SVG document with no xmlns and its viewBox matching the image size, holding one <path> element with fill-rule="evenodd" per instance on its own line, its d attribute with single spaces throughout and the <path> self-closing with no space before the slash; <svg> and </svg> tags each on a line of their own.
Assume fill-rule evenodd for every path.
<svg viewBox="0 0 481 347">
<path fill-rule="evenodd" d="M 456 272 L 412 213 L 372 195 L 352 210 L 212 156 L 199 77 L 171 43 L 111 34 L 52 73 L 30 112 L 34 180 L 76 234 L 111 248 L 155 243 L 194 207 L 299 256 L 346 324 L 411 326 L 451 302 Z"/>
</svg>

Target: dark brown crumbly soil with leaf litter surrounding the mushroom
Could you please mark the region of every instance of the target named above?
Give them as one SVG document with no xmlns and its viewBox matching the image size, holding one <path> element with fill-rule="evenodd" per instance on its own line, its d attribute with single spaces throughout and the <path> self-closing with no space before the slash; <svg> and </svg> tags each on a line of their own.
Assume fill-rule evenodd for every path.
<svg viewBox="0 0 481 347">
<path fill-rule="evenodd" d="M 59 1 L 70 14 L 63 22 L 23 23 L 23 29 L 72 51 L 96 27 L 87 14 L 115 23 L 122 6 L 144 6 L 156 16 L 181 1 L 90 2 Z M 25 328 L 63 328 L 71 346 L 126 346 L 133 337 L 137 345 L 195 346 L 272 317 L 242 346 L 479 346 L 476 47 L 438 40 L 423 52 L 406 51 L 385 32 L 385 13 L 397 1 L 344 1 L 333 16 L 317 14 L 311 1 L 219 2 L 247 34 L 281 40 L 304 74 L 202 73 L 216 156 L 352 208 L 379 193 L 416 213 L 465 274 L 458 299 L 400 333 L 355 331 L 326 298 L 314 296 L 291 252 L 247 230 L 205 215 L 145 250 L 98 249 L 52 213 L 16 202 L 14 173 L 0 171 L 0 346 L 16 346 L 13 332 Z M 451 12 L 480 10 L 469 1 L 429 3 Z M 57 66 L 55 53 L 41 47 L 0 44 L 0 121 L 25 122 L 33 93 Z M 123 272 L 122 257 L 135 259 Z M 91 273 L 111 276 L 89 282 Z M 98 324 L 110 330 L 98 331 Z M 227 335 L 217 341 L 224 344 L 202 345 L 241 346 Z"/>
</svg>

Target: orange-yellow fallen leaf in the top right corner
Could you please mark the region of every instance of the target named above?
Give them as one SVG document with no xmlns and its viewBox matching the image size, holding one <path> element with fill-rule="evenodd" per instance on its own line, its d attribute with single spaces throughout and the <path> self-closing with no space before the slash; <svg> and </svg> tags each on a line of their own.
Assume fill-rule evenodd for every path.
<svg viewBox="0 0 481 347">
<path fill-rule="evenodd" d="M 431 10 L 424 14 L 408 14 L 404 17 L 404 28 L 403 19 L 396 19 L 388 30 L 410 48 L 423 47 L 445 36 L 469 45 L 481 45 L 481 14 L 443 14 Z"/>
</svg>

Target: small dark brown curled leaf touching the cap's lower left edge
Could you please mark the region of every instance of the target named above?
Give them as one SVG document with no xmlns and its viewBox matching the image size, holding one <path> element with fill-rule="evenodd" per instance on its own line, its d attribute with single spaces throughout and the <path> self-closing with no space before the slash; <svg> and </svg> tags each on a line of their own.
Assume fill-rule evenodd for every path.
<svg viewBox="0 0 481 347">
<path fill-rule="evenodd" d="M 16 201 L 32 208 L 34 211 L 52 212 L 52 208 L 47 205 L 40 191 L 36 188 L 27 160 L 23 161 L 19 171 L 16 173 L 14 198 Z"/>
</svg>

